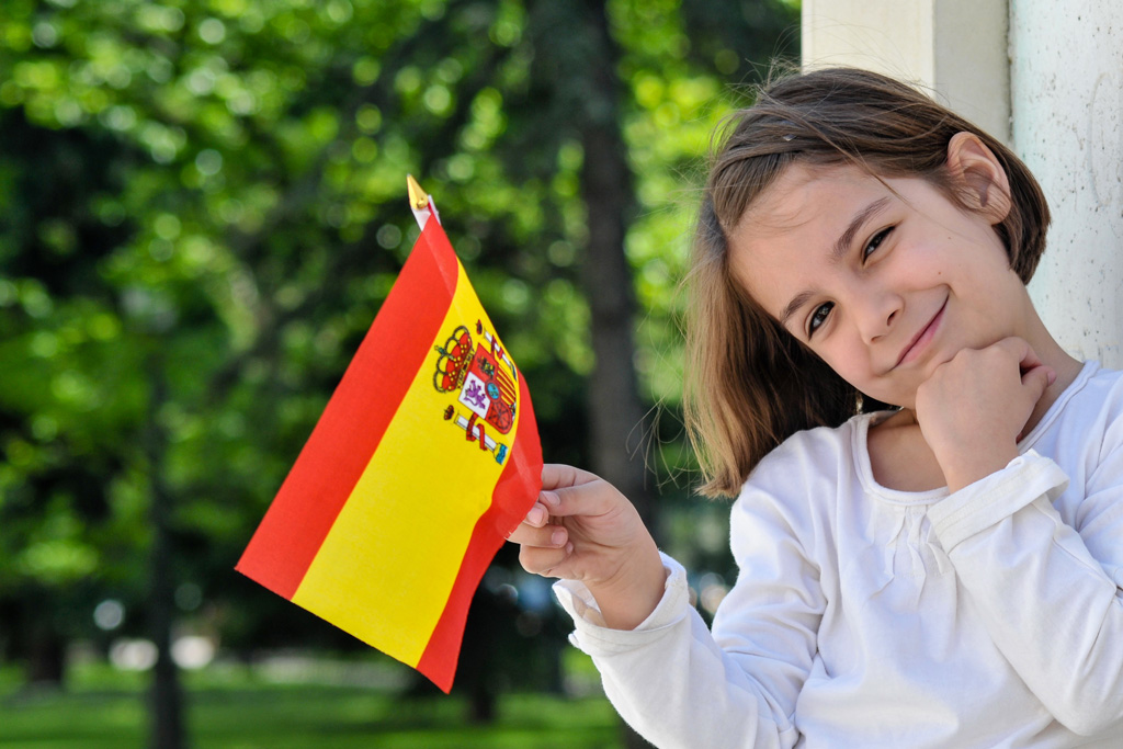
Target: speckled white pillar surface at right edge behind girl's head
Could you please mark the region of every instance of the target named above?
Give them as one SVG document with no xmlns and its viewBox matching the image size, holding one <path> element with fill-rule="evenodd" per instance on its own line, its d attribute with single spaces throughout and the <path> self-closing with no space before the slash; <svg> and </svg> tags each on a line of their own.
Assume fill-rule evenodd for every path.
<svg viewBox="0 0 1123 749">
<path fill-rule="evenodd" d="M 1030 283 L 1074 356 L 1123 368 L 1123 4 L 1014 0 L 1014 149 L 1041 181 L 1053 223 Z"/>
</svg>

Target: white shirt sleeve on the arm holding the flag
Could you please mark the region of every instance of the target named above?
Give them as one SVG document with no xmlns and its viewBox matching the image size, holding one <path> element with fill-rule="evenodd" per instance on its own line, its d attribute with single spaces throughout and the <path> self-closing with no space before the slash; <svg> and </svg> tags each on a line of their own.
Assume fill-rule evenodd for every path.
<svg viewBox="0 0 1123 749">
<path fill-rule="evenodd" d="M 793 747 L 795 702 L 811 668 L 824 601 L 818 570 L 782 513 L 734 505 L 740 567 L 713 633 L 690 605 L 686 574 L 664 557 L 663 600 L 630 631 L 603 627 L 579 583 L 555 585 L 574 616 L 572 641 L 593 657 L 609 700 L 658 747 Z"/>
</svg>

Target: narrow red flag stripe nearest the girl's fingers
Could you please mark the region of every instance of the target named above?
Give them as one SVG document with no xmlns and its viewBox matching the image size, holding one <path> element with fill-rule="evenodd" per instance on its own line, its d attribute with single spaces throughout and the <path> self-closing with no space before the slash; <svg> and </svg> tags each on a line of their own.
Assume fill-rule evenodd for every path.
<svg viewBox="0 0 1123 749">
<path fill-rule="evenodd" d="M 503 473 L 495 483 L 492 503 L 472 530 L 464 561 L 456 574 L 445 610 L 429 637 L 417 669 L 429 677 L 446 694 L 453 688 L 456 661 L 464 639 L 472 596 L 483 579 L 487 566 L 522 519 L 535 506 L 542 488 L 542 447 L 538 439 L 538 422 L 530 403 L 530 390 L 519 377 L 519 429 Z"/>
</svg>

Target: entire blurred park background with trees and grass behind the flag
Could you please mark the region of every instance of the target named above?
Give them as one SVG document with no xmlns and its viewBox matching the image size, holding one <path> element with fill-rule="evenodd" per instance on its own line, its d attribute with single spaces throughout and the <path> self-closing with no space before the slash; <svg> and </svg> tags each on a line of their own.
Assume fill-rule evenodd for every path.
<svg viewBox="0 0 1123 749">
<path fill-rule="evenodd" d="M 677 284 L 711 133 L 798 21 L 4 0 L 0 747 L 639 746 L 513 549 L 449 697 L 232 567 L 412 247 L 412 173 L 546 458 L 622 487 L 709 615 L 733 573 L 691 496 Z"/>
</svg>

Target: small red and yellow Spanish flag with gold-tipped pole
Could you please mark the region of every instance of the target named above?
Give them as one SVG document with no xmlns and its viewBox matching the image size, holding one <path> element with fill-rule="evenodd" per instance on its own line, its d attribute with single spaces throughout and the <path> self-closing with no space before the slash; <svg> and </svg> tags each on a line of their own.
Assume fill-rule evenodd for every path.
<svg viewBox="0 0 1123 749">
<path fill-rule="evenodd" d="M 421 236 L 237 569 L 447 693 L 542 456 L 527 383 L 410 188 Z"/>
</svg>

